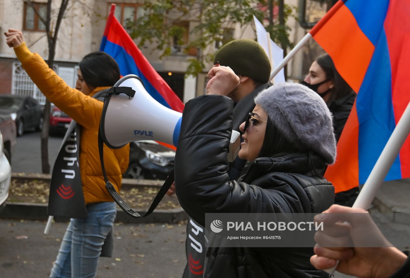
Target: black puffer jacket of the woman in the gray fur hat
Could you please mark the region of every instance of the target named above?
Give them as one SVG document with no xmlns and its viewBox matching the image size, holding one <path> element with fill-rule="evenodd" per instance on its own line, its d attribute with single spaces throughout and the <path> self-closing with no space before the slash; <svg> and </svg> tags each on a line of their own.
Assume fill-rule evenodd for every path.
<svg viewBox="0 0 410 278">
<path fill-rule="evenodd" d="M 240 181 L 229 181 L 232 107 L 224 96 L 200 96 L 185 106 L 175 186 L 192 219 L 204 225 L 206 212 L 322 212 L 333 204 L 333 186 L 311 175 L 307 154 L 258 158 Z M 209 248 L 204 277 L 328 277 L 312 267 L 311 255 L 312 248 Z"/>
</svg>

